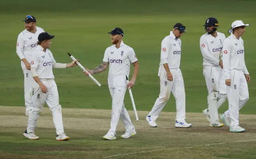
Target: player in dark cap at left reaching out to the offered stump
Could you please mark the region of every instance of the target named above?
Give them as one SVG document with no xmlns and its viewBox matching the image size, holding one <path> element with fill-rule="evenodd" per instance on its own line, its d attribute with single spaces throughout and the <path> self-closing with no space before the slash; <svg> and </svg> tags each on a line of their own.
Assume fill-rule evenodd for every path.
<svg viewBox="0 0 256 159">
<path fill-rule="evenodd" d="M 52 43 L 51 39 L 54 35 L 47 32 L 38 35 L 38 47 L 32 53 L 31 75 L 37 84 L 33 86 L 33 108 L 28 117 L 28 127 L 23 133 L 28 139 L 38 139 L 34 130 L 36 122 L 44 108 L 44 103 L 48 105 L 52 112 L 53 123 L 56 128 L 56 140 L 68 140 L 69 137 L 64 133 L 62 123 L 62 108 L 59 103 L 59 94 L 57 85 L 54 81 L 52 67 L 64 69 L 76 66 L 76 61 L 72 63 L 56 63 L 52 52 L 48 49 Z"/>
</svg>

